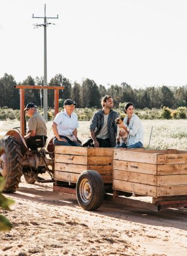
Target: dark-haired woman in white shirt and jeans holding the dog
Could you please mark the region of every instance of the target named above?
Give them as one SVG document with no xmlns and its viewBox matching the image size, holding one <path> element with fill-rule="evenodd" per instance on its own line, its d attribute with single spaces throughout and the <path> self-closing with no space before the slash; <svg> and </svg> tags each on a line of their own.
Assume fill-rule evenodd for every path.
<svg viewBox="0 0 187 256">
<path fill-rule="evenodd" d="M 127 116 L 124 118 L 123 123 L 119 124 L 128 134 L 127 143 L 122 143 L 116 147 L 127 147 L 133 149 L 137 147 L 143 147 L 143 127 L 139 117 L 134 114 L 133 103 L 127 103 L 124 106 L 124 113 Z M 120 135 L 123 136 L 125 132 L 121 131 Z"/>
</svg>

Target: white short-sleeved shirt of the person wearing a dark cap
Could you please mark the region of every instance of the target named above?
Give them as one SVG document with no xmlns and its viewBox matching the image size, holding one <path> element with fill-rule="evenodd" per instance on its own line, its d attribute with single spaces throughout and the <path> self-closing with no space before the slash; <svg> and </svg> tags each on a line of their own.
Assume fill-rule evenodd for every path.
<svg viewBox="0 0 187 256">
<path fill-rule="evenodd" d="M 71 117 L 65 112 L 60 112 L 54 118 L 54 121 L 57 124 L 57 130 L 59 135 L 68 135 L 72 136 L 72 132 L 78 127 L 78 117 L 77 114 L 72 112 Z"/>
</svg>

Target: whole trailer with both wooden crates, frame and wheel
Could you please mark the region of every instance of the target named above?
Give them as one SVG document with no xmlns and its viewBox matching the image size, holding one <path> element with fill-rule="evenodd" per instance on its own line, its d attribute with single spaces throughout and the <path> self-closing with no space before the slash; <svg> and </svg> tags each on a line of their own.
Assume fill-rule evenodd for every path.
<svg viewBox="0 0 187 256">
<path fill-rule="evenodd" d="M 77 194 L 85 210 L 103 198 L 154 211 L 187 206 L 187 151 L 57 146 L 54 159 L 53 190 Z"/>
</svg>

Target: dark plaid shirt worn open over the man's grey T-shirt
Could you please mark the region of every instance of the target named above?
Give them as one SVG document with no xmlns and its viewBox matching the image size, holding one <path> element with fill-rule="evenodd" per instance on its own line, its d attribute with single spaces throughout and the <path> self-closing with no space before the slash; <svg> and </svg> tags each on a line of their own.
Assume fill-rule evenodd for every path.
<svg viewBox="0 0 187 256">
<path fill-rule="evenodd" d="M 115 119 L 119 117 L 119 114 L 116 111 L 110 110 L 109 118 L 108 118 L 108 134 L 111 147 L 116 146 L 116 136 L 117 136 L 117 124 L 115 123 Z M 103 110 L 99 110 L 95 114 L 93 114 L 91 125 L 89 126 L 90 131 L 94 131 L 97 136 L 101 131 L 104 123 L 104 114 Z"/>
</svg>

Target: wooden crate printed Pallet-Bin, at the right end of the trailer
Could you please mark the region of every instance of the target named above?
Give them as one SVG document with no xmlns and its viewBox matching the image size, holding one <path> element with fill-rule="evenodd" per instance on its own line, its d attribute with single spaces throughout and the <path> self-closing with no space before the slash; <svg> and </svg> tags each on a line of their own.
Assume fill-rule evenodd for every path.
<svg viewBox="0 0 187 256">
<path fill-rule="evenodd" d="M 113 190 L 151 197 L 187 195 L 187 151 L 114 150 Z"/>
</svg>

